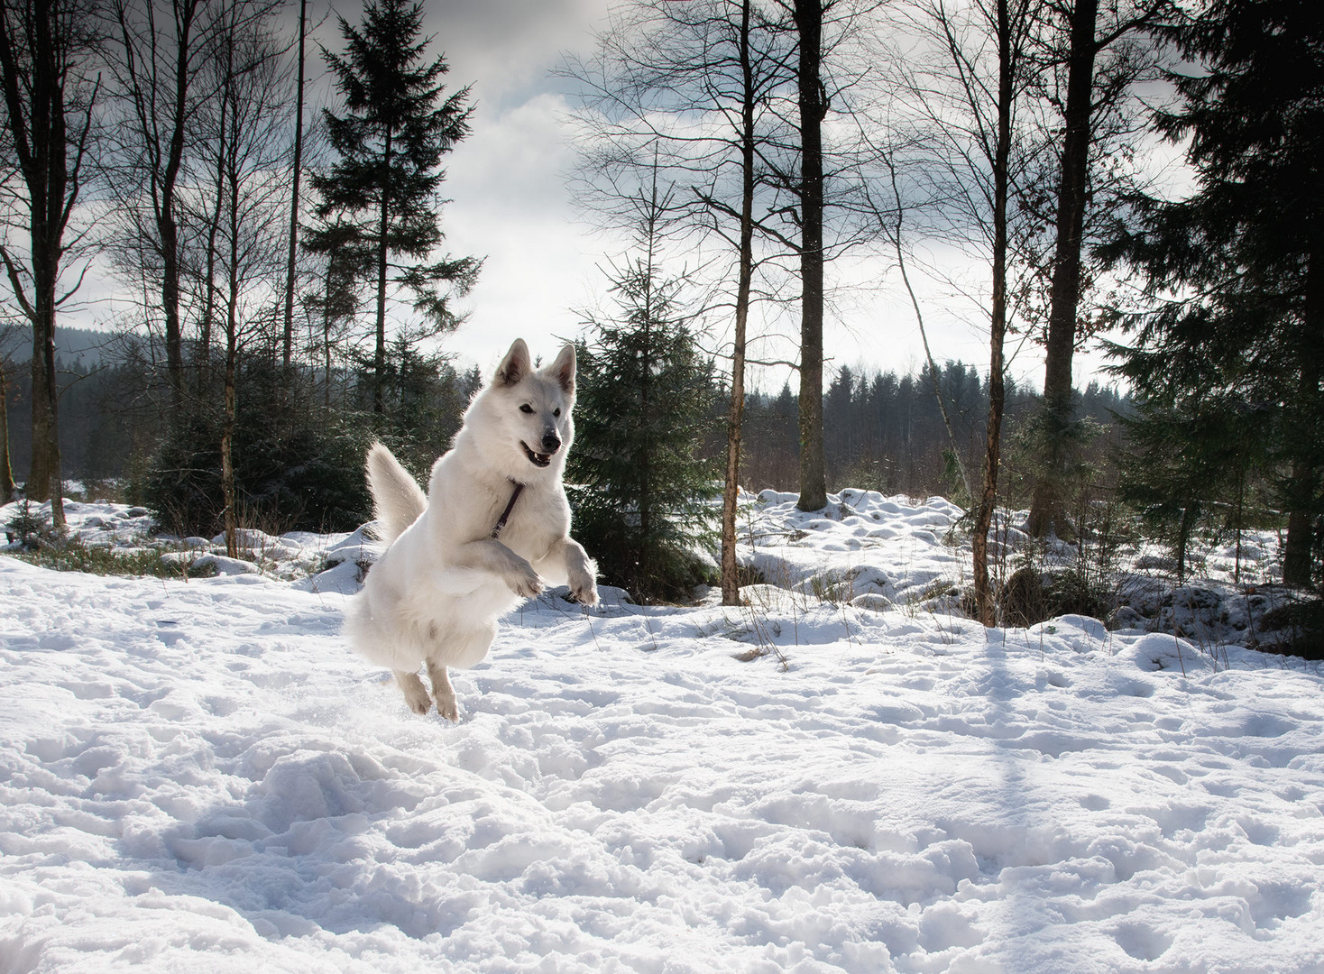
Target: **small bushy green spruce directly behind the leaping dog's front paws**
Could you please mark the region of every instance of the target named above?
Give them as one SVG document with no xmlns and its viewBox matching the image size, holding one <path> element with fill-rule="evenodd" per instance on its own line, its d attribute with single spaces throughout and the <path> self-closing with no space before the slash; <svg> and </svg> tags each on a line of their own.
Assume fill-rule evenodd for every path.
<svg viewBox="0 0 1324 974">
<path fill-rule="evenodd" d="M 702 581 L 694 549 L 714 540 L 720 483 L 696 453 L 711 425 L 711 363 L 694 343 L 653 251 L 613 269 L 617 320 L 579 349 L 575 533 L 604 578 L 637 598 L 683 597 Z"/>
</svg>

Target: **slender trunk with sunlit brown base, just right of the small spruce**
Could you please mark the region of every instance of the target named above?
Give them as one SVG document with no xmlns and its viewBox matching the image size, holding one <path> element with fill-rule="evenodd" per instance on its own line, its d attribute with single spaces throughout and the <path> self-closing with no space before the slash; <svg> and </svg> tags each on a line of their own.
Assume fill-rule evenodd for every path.
<svg viewBox="0 0 1324 974">
<path fill-rule="evenodd" d="M 740 605 L 736 564 L 736 495 L 740 490 L 740 427 L 744 420 L 745 324 L 753 283 L 755 90 L 749 58 L 749 0 L 740 5 L 740 278 L 736 285 L 736 333 L 731 349 L 731 409 L 727 412 L 727 482 L 722 491 L 722 605 Z"/>
</svg>

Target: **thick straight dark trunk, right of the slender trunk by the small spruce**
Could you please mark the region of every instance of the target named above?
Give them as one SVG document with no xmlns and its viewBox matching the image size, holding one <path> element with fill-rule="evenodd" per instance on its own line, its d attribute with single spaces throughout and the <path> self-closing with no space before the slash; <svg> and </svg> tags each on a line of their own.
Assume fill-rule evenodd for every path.
<svg viewBox="0 0 1324 974">
<path fill-rule="evenodd" d="M 824 470 L 824 152 L 828 115 L 822 83 L 822 3 L 796 0 L 800 36 L 800 500 L 801 511 L 828 506 Z"/>
</svg>

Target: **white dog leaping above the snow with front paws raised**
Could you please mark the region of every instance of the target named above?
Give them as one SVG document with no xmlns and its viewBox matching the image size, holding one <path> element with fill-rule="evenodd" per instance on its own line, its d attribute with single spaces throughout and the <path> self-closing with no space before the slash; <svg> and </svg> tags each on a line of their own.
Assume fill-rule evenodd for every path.
<svg viewBox="0 0 1324 974">
<path fill-rule="evenodd" d="M 459 717 L 448 667 L 487 655 L 496 619 L 551 582 L 597 602 L 597 566 L 569 536 L 561 475 L 575 438 L 575 347 L 534 371 L 516 339 L 469 409 L 454 445 L 432 467 L 426 496 L 391 451 L 368 451 L 377 533 L 388 544 L 346 613 L 350 643 L 395 671 L 417 713 Z M 559 446 L 551 449 L 555 441 Z M 540 463 L 545 462 L 545 466 Z M 498 540 L 490 535 L 524 484 Z"/>
</svg>

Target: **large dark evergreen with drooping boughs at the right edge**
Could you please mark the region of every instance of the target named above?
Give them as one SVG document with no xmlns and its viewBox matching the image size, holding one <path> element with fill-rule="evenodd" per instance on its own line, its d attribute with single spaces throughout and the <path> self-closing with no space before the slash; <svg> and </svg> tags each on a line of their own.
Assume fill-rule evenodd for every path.
<svg viewBox="0 0 1324 974">
<path fill-rule="evenodd" d="M 1120 349 L 1124 372 L 1144 394 L 1274 404 L 1283 577 L 1308 585 L 1324 512 L 1324 7 L 1214 0 L 1165 36 L 1200 65 L 1173 75 L 1181 103 L 1157 118 L 1190 139 L 1198 191 L 1137 200 L 1140 228 L 1108 249 L 1170 299 Z"/>
</svg>

